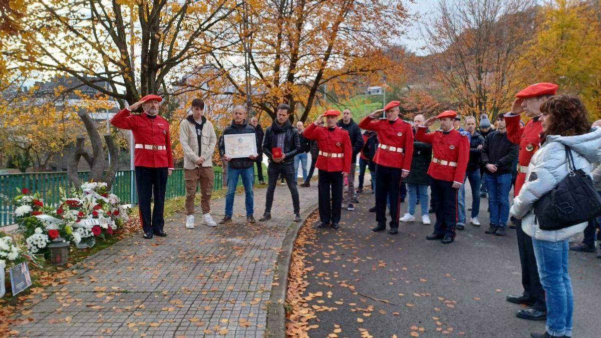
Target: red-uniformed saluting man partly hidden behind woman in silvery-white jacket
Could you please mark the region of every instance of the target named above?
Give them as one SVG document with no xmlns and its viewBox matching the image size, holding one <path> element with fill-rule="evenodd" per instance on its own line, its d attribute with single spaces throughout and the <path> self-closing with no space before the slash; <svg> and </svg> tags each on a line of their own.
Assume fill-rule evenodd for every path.
<svg viewBox="0 0 601 338">
<path fill-rule="evenodd" d="M 511 143 L 519 144 L 520 152 L 517 157 L 517 178 L 513 190 L 517 196 L 526 181 L 526 171 L 530 159 L 540 147 L 540 133 L 543 132 L 542 122 L 539 120 L 542 113 L 540 105 L 547 97 L 557 93 L 558 86 L 546 82 L 529 85 L 516 94 L 517 99 L 511 106 L 511 112 L 505 114 L 505 125 L 507 126 L 507 138 Z M 530 120 L 525 126 L 520 125 L 520 114 L 526 112 Z M 516 304 L 532 306 L 531 309 L 521 309 L 517 312 L 518 318 L 543 320 L 546 318 L 545 290 L 540 284 L 532 238 L 522 230 L 521 220 L 515 220 L 517 248 L 520 253 L 522 265 L 522 295 L 508 295 L 507 301 Z"/>
</svg>

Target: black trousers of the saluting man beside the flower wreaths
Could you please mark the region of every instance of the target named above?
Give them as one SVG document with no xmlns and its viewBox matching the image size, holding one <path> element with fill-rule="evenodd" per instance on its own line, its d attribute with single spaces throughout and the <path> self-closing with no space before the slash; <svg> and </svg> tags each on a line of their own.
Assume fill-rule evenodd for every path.
<svg viewBox="0 0 601 338">
<path fill-rule="evenodd" d="M 136 167 L 136 188 L 138 189 L 138 208 L 144 233 L 159 232 L 165 226 L 163 208 L 165 207 L 165 189 L 167 187 L 167 168 Z M 150 217 L 150 200 L 154 195 L 154 209 Z"/>
</svg>

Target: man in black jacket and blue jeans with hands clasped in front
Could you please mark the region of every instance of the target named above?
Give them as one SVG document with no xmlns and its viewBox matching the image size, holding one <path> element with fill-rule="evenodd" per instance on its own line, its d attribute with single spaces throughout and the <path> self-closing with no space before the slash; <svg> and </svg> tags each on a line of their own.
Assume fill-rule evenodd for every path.
<svg viewBox="0 0 601 338">
<path fill-rule="evenodd" d="M 482 148 L 482 162 L 486 168 L 484 182 L 489 192 L 490 208 L 490 227 L 486 233 L 505 236 L 509 217 L 511 165 L 517 159 L 519 145 L 508 140 L 503 114 L 498 115 L 496 123 L 496 131 L 488 135 Z"/>
</svg>

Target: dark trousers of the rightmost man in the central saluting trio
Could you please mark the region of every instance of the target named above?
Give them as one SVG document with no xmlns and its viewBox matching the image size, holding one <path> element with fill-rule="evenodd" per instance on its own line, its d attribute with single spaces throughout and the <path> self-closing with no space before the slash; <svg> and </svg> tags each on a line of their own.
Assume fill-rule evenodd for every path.
<svg viewBox="0 0 601 338">
<path fill-rule="evenodd" d="M 436 213 L 434 233 L 455 238 L 457 226 L 457 192 L 453 182 L 430 179 L 432 189 L 432 203 Z"/>
</svg>

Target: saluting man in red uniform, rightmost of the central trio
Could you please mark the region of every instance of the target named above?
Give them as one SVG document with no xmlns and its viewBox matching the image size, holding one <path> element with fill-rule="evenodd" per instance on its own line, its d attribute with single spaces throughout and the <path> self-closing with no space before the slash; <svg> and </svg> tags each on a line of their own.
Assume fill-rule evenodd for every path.
<svg viewBox="0 0 601 338">
<path fill-rule="evenodd" d="M 453 122 L 457 112 L 448 110 L 430 117 L 419 126 L 415 139 L 432 144 L 433 158 L 428 168 L 432 204 L 436 212 L 434 232 L 426 239 L 442 239 L 443 244 L 452 243 L 457 226 L 457 192 L 465 179 L 469 161 L 469 139 L 465 132 L 456 131 Z M 441 120 L 441 129 L 427 133 L 427 128 L 436 119 Z"/>
</svg>

